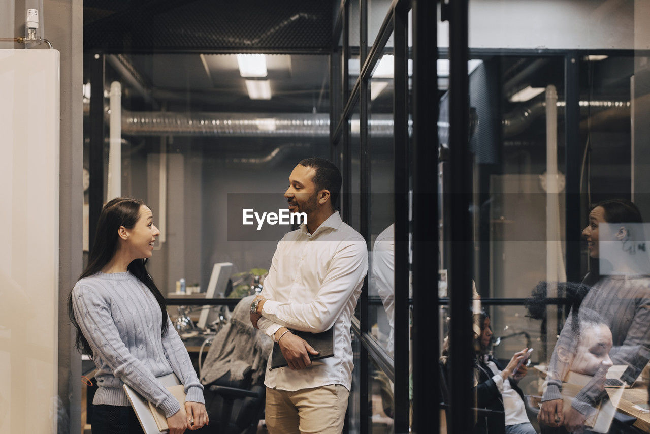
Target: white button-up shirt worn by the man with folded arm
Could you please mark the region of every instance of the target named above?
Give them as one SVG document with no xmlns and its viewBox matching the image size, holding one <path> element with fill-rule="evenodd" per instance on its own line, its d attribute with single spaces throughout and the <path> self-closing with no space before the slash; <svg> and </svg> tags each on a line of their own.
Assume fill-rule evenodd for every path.
<svg viewBox="0 0 650 434">
<path fill-rule="evenodd" d="M 343 223 L 338 211 L 313 234 L 302 224 L 279 241 L 264 280 L 261 295 L 266 302 L 257 325 L 271 337 L 283 326 L 313 333 L 333 326 L 335 355 L 303 370 L 271 369 L 269 357 L 266 387 L 293 392 L 340 384 L 350 390 L 354 367 L 350 325 L 367 271 L 365 240 Z"/>
</svg>

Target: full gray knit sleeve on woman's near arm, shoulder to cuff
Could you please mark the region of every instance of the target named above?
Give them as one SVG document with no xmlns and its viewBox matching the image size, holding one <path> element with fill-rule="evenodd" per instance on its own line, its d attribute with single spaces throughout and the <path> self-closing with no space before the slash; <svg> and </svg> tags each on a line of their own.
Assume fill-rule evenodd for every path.
<svg viewBox="0 0 650 434">
<path fill-rule="evenodd" d="M 107 300 L 93 288 L 77 285 L 72 290 L 72 307 L 94 358 L 99 357 L 110 367 L 116 378 L 162 409 L 165 417 L 170 417 L 181 409 L 176 398 L 162 387 L 153 373 L 124 345 Z"/>
</svg>

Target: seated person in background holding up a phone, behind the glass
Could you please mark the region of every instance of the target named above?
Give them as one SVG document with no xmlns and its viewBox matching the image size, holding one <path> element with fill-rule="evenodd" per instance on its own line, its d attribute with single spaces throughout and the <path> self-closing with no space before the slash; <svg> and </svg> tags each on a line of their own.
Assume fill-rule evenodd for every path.
<svg viewBox="0 0 650 434">
<path fill-rule="evenodd" d="M 474 314 L 474 324 L 478 323 L 480 334 L 475 342 L 476 369 L 476 407 L 504 411 L 502 418 L 479 414 L 474 427 L 475 433 L 536 434 L 526 416 L 524 394 L 517 386 L 519 380 L 528 372 L 524 357 L 527 348 L 518 351 L 510 362 L 501 368 L 496 359 L 489 354 L 492 338 L 489 316 L 486 312 Z"/>
</svg>

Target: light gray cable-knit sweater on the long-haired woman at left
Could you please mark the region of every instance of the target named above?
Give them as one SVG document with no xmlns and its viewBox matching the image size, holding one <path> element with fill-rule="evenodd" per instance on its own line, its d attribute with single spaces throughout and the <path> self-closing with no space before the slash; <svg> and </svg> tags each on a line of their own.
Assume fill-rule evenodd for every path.
<svg viewBox="0 0 650 434">
<path fill-rule="evenodd" d="M 77 282 L 72 305 L 94 353 L 98 391 L 94 404 L 128 406 L 126 383 L 164 411 L 179 411 L 178 401 L 156 377 L 174 372 L 185 385 L 186 401 L 205 403 L 187 349 L 167 317 L 161 338 L 161 309 L 138 278 L 126 273 L 97 273 Z"/>
</svg>

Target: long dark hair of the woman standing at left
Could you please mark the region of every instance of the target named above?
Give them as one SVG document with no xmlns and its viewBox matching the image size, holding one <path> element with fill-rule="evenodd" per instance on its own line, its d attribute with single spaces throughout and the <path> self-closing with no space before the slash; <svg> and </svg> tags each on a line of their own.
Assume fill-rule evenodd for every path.
<svg viewBox="0 0 650 434">
<path fill-rule="evenodd" d="M 133 228 L 140 218 L 140 207 L 142 205 L 144 205 L 142 200 L 118 197 L 110 200 L 110 202 L 102 208 L 97 223 L 95 243 L 90 252 L 90 258 L 88 259 L 88 266 L 83 273 L 81 273 L 78 280 L 98 273 L 110 262 L 118 249 L 118 229 L 120 226 L 124 226 L 127 229 Z M 140 282 L 144 283 L 153 296 L 156 297 L 156 301 L 161 308 L 162 314 L 161 336 L 164 336 L 167 332 L 167 306 L 164 297 L 162 297 L 161 292 L 158 290 L 158 287 L 153 282 L 151 276 L 149 276 L 149 273 L 147 273 L 145 267 L 146 263 L 146 259 L 133 260 L 127 267 L 127 270 L 137 277 Z M 75 339 L 77 349 L 93 356 L 92 348 L 81 332 L 79 323 L 77 323 L 77 319 L 75 318 L 72 308 L 72 291 L 70 291 L 70 295 L 68 296 L 68 316 L 70 316 L 70 321 L 72 321 L 75 329 L 77 329 L 77 338 Z"/>
</svg>

